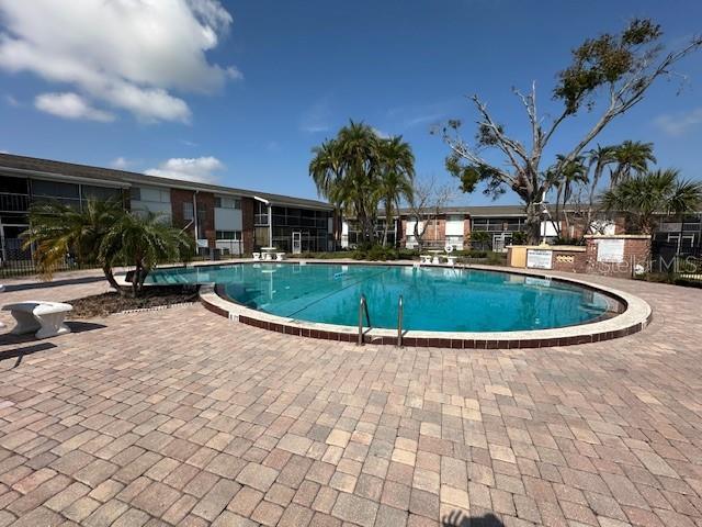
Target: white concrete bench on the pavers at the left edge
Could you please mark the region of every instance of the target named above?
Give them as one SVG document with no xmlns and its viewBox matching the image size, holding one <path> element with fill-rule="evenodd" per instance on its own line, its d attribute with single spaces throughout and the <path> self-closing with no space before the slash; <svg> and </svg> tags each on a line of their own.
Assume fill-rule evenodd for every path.
<svg viewBox="0 0 702 527">
<path fill-rule="evenodd" d="M 36 338 L 48 338 L 70 333 L 70 328 L 64 324 L 64 319 L 72 309 L 72 305 L 61 302 L 42 301 L 18 302 L 2 306 L 2 310 L 9 311 L 18 323 L 10 332 L 12 335 L 36 332 Z"/>
</svg>

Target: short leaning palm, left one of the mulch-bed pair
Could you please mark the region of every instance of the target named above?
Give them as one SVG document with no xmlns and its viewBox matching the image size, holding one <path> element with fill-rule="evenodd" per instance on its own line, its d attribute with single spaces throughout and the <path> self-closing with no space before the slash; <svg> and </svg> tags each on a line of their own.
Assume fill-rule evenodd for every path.
<svg viewBox="0 0 702 527">
<path fill-rule="evenodd" d="M 82 265 L 100 262 L 110 285 L 120 291 L 112 262 L 100 261 L 99 247 L 123 214 L 121 203 L 114 200 L 88 200 L 82 208 L 38 202 L 30 209 L 30 228 L 21 235 L 23 247 L 33 248 L 36 269 L 47 280 L 67 257 L 75 256 Z"/>
</svg>

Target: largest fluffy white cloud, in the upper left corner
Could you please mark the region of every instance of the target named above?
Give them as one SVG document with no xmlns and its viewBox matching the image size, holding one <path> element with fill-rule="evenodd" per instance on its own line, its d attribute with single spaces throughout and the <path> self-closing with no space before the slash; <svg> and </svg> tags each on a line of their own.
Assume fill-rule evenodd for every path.
<svg viewBox="0 0 702 527">
<path fill-rule="evenodd" d="M 233 22 L 218 0 L 0 0 L 0 68 L 69 85 L 145 122 L 188 122 L 171 93 L 241 78 L 207 60 Z"/>
</svg>

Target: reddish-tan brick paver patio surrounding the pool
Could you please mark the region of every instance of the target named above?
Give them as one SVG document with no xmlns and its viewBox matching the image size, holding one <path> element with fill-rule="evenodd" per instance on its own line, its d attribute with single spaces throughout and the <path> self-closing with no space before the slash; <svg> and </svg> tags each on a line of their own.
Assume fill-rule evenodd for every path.
<svg viewBox="0 0 702 527">
<path fill-rule="evenodd" d="M 196 305 L 0 336 L 0 526 L 702 526 L 702 290 L 600 280 L 652 325 L 400 350 Z"/>
</svg>

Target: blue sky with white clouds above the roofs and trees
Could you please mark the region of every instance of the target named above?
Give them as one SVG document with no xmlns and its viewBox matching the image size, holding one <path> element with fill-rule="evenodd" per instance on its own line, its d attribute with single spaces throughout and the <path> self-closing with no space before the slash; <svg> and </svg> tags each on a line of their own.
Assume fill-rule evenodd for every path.
<svg viewBox="0 0 702 527">
<path fill-rule="evenodd" d="M 420 177 L 450 181 L 448 149 L 429 130 L 469 121 L 464 96 L 482 96 L 523 136 L 511 87 L 535 80 L 542 112 L 555 112 L 555 74 L 585 37 L 633 16 L 655 19 L 671 45 L 702 31 L 692 0 L 179 0 L 160 4 L 172 13 L 137 18 L 126 12 L 134 2 L 112 3 L 121 9 L 0 0 L 0 150 L 308 198 L 310 148 L 349 119 L 401 134 Z M 47 12 L 55 18 L 38 15 Z M 145 30 L 149 16 L 157 25 Z M 677 69 L 680 94 L 679 80 L 659 82 L 598 141 L 653 142 L 659 165 L 702 179 L 702 54 Z M 564 127 L 553 152 L 590 120 Z"/>
</svg>

